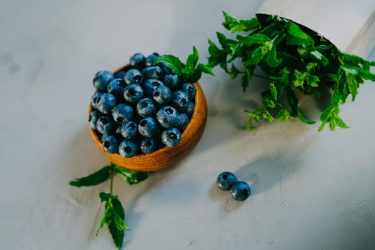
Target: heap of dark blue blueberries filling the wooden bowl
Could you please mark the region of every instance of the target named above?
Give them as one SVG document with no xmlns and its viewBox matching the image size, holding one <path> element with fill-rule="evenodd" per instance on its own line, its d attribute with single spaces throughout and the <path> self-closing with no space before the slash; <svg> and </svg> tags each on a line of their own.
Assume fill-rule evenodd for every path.
<svg viewBox="0 0 375 250">
<path fill-rule="evenodd" d="M 165 64 L 154 64 L 158 56 L 136 53 L 116 74 L 94 76 L 89 123 L 106 153 L 129 158 L 179 144 L 194 112 L 196 88 Z"/>
</svg>

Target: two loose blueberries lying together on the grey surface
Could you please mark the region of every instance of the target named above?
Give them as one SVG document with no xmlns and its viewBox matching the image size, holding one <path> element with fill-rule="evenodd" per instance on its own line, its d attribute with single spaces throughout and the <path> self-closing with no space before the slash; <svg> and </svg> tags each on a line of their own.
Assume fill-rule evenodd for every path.
<svg viewBox="0 0 375 250">
<path fill-rule="evenodd" d="M 236 201 L 244 201 L 251 195 L 249 184 L 245 181 L 239 181 L 233 173 L 229 171 L 222 172 L 217 176 L 216 184 L 219 189 L 230 191 L 231 196 Z"/>
</svg>

